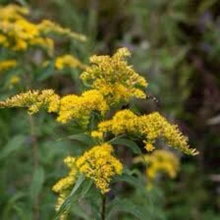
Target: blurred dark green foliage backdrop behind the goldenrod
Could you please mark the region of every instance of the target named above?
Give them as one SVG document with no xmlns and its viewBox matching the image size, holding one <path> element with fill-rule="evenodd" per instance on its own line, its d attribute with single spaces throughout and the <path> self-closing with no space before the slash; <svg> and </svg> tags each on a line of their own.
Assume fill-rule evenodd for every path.
<svg viewBox="0 0 220 220">
<path fill-rule="evenodd" d="M 162 112 L 180 126 L 189 136 L 190 144 L 200 151 L 194 158 L 182 157 L 176 180 L 160 183 L 153 202 L 156 212 L 161 214 L 152 219 L 220 219 L 220 1 L 0 0 L 0 3 L 28 5 L 33 9 L 33 20 L 48 18 L 85 34 L 86 44 L 72 43 L 60 48 L 85 62 L 92 54 L 112 54 L 119 47 L 128 47 L 133 54 L 132 65 L 149 82 L 148 93 L 158 99 L 158 103 L 151 100 L 139 103 L 141 109 Z M 60 76 L 59 82 L 45 81 L 43 87 L 56 88 L 63 94 L 79 91 L 77 73 L 74 74 Z M 34 219 L 33 207 L 40 209 L 38 219 L 51 219 L 55 195 L 50 188 L 64 174 L 62 158 L 74 145 L 73 150 L 80 153 L 76 147 L 79 143 L 57 141 L 58 134 L 62 137 L 68 130 L 58 128 L 48 115 L 40 114 L 34 122 L 40 165 L 34 173 L 37 181 L 33 181 L 30 143 L 36 140 L 30 135 L 28 121 L 22 110 L 0 112 L 0 219 Z M 35 197 L 39 207 L 33 204 Z M 132 198 L 145 203 L 138 193 Z"/>
</svg>

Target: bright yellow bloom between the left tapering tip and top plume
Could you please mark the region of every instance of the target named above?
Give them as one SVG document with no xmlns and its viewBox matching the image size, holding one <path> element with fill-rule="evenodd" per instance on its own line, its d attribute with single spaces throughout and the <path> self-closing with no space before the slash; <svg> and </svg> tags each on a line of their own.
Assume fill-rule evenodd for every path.
<svg viewBox="0 0 220 220">
<path fill-rule="evenodd" d="M 88 90 L 81 96 L 67 95 L 61 98 L 57 120 L 67 123 L 71 119 L 88 120 L 92 111 L 104 114 L 108 110 L 103 95 L 97 90 Z"/>
</svg>

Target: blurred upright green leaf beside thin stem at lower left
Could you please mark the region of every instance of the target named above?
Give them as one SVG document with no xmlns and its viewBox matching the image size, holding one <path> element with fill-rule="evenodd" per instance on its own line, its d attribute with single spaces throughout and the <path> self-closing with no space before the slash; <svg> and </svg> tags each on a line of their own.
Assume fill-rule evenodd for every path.
<svg viewBox="0 0 220 220">
<path fill-rule="evenodd" d="M 30 195 L 32 200 L 35 200 L 38 197 L 43 187 L 44 179 L 45 179 L 44 170 L 42 167 L 39 167 L 38 169 L 35 170 L 31 183 Z"/>
</svg>

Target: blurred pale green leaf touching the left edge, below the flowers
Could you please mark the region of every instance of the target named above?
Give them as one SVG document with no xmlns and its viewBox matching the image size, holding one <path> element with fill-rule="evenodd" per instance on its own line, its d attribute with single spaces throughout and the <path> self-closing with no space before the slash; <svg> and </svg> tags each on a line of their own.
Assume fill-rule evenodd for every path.
<svg viewBox="0 0 220 220">
<path fill-rule="evenodd" d="M 13 137 L 2 150 L 0 160 L 3 160 L 9 157 L 11 154 L 15 153 L 16 151 L 20 150 L 24 145 L 24 141 L 24 135 L 17 135 Z"/>
</svg>

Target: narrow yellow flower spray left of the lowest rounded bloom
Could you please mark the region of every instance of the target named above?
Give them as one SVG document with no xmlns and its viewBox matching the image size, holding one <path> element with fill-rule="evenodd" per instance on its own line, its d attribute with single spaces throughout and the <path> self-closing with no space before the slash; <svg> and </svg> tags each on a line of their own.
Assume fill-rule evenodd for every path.
<svg viewBox="0 0 220 220">
<path fill-rule="evenodd" d="M 67 177 L 60 179 L 53 187 L 52 190 L 59 194 L 57 203 L 55 206 L 56 211 L 60 209 L 65 199 L 69 195 L 71 188 L 77 180 L 77 168 L 75 166 L 76 159 L 74 157 L 67 157 L 64 159 L 65 165 L 70 169 Z M 66 213 L 64 212 L 60 220 L 66 219 Z"/>
</svg>

